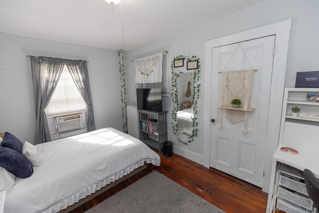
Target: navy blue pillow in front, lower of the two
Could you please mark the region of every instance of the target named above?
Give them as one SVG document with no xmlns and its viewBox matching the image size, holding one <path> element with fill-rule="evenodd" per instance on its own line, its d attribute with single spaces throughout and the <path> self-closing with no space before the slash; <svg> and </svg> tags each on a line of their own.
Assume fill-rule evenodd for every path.
<svg viewBox="0 0 319 213">
<path fill-rule="evenodd" d="M 7 147 L 0 147 L 0 166 L 18 178 L 28 178 L 33 173 L 32 164 L 22 154 Z"/>
</svg>

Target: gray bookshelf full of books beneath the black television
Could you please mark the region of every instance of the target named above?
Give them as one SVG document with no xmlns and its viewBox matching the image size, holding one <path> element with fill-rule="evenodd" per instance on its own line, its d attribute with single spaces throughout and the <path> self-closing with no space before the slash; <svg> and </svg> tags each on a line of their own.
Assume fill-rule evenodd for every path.
<svg viewBox="0 0 319 213">
<path fill-rule="evenodd" d="M 161 153 L 167 141 L 167 111 L 139 111 L 140 140 Z"/>
</svg>

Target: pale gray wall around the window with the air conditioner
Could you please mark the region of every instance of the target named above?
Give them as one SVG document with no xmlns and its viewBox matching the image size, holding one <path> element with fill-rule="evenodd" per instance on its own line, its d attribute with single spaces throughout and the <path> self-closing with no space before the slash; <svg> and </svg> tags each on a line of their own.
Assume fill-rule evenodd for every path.
<svg viewBox="0 0 319 213">
<path fill-rule="evenodd" d="M 34 141 L 35 105 L 30 62 L 25 55 L 88 60 L 96 128 L 122 130 L 116 50 L 0 33 L 0 132 Z M 15 66 L 25 59 L 24 64 Z"/>
</svg>

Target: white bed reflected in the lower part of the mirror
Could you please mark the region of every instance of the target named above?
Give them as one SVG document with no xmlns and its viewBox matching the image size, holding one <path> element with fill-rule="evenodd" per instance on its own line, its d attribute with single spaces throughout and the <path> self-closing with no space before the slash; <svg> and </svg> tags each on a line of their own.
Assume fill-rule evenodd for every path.
<svg viewBox="0 0 319 213">
<path fill-rule="evenodd" d="M 194 118 L 194 108 L 177 111 L 178 133 L 192 135 Z"/>
</svg>

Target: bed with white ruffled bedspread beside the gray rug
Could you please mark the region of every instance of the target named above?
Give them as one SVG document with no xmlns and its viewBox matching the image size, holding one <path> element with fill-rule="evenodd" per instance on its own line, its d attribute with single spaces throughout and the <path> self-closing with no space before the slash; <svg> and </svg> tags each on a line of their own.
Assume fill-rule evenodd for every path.
<svg viewBox="0 0 319 213">
<path fill-rule="evenodd" d="M 25 157 L 31 162 L 40 155 L 42 162 L 39 166 L 32 163 L 30 177 L 15 177 L 6 195 L 7 213 L 67 212 L 79 206 L 85 197 L 139 171 L 145 164 L 160 166 L 160 156 L 156 152 L 114 128 L 35 146 L 24 142 L 23 148 L 26 144 L 30 146 L 29 153 L 32 154 L 32 149 L 38 153 L 33 159 Z M 1 149 L 2 142 L 0 145 Z"/>
</svg>

